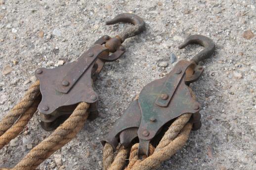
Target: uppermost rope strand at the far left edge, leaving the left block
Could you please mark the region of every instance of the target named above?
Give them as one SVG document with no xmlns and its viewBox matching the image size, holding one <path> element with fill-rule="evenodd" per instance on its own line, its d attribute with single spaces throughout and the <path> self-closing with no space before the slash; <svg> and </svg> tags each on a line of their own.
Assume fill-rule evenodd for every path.
<svg viewBox="0 0 256 170">
<path fill-rule="evenodd" d="M 0 122 L 0 136 L 4 134 L 35 101 L 40 94 L 39 84 L 39 80 L 32 84 L 22 100 L 4 116 Z"/>
</svg>

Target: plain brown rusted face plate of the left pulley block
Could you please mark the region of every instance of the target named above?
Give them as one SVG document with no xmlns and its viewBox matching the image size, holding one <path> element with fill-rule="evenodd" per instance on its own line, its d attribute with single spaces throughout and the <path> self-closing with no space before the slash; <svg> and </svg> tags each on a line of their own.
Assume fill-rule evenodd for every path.
<svg viewBox="0 0 256 170">
<path fill-rule="evenodd" d="M 36 70 L 36 76 L 40 80 L 40 91 L 42 94 L 42 101 L 40 102 L 38 108 L 40 112 L 43 114 L 50 114 L 57 108 L 61 106 L 73 105 L 78 102 L 88 102 L 93 103 L 96 102 L 98 96 L 96 92 L 94 92 L 92 88 L 91 82 L 91 70 L 96 61 L 97 56 L 106 51 L 107 48 L 102 45 L 96 44 L 91 47 L 88 51 L 86 51 L 77 61 L 69 63 L 67 65 L 57 67 L 57 68 L 39 68 Z M 88 54 L 93 53 L 92 57 Z M 79 63 L 81 61 L 82 64 L 85 64 L 85 67 Z M 90 64 L 86 64 L 86 62 Z M 75 69 L 75 68 L 80 69 Z M 70 68 L 74 68 L 77 72 L 72 72 L 73 76 L 76 77 L 72 80 L 72 75 L 70 74 Z M 83 72 L 81 74 L 81 72 Z M 77 74 L 81 76 L 77 79 Z M 73 86 L 71 89 L 61 89 L 57 88 L 60 86 L 60 82 L 63 81 L 63 77 L 69 75 L 68 81 L 70 81 L 70 85 Z M 76 85 L 74 86 L 75 83 Z M 65 84 L 64 84 L 65 85 Z M 63 86 L 64 86 L 63 85 Z M 65 86 L 66 87 L 66 86 Z M 60 91 L 59 91 L 60 90 Z M 63 92 L 63 93 L 62 93 Z M 67 93 L 68 92 L 68 93 Z"/>
</svg>

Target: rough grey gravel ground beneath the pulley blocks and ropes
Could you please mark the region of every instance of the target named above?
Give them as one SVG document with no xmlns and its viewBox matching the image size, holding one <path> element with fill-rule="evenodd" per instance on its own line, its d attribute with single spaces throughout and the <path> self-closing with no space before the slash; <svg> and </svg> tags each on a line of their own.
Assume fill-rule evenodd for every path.
<svg viewBox="0 0 256 170">
<path fill-rule="evenodd" d="M 87 122 L 40 169 L 101 170 L 100 139 L 143 86 L 173 68 L 175 57 L 202 49 L 177 48 L 189 34 L 202 34 L 216 44 L 191 86 L 203 105 L 203 126 L 158 170 L 256 170 L 255 0 L 0 0 L 0 119 L 35 81 L 36 68 L 69 63 L 102 35 L 118 34 L 129 25 L 104 22 L 124 12 L 141 16 L 147 30 L 126 40 L 125 55 L 106 64 L 94 83 L 104 116 Z M 16 165 L 49 134 L 35 114 L 0 150 L 0 167 Z"/>
</svg>

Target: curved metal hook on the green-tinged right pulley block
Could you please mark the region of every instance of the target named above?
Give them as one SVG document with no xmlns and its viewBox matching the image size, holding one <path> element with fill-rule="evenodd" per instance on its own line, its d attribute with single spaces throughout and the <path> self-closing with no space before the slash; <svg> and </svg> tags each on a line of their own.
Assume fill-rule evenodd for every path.
<svg viewBox="0 0 256 170">
<path fill-rule="evenodd" d="M 215 50 L 215 44 L 213 40 L 204 35 L 190 35 L 184 40 L 181 45 L 179 45 L 178 48 L 182 49 L 192 43 L 200 44 L 201 46 L 205 47 L 205 49 L 200 51 L 191 59 L 191 61 L 195 62 L 197 65 L 200 61 L 209 58 Z"/>
</svg>

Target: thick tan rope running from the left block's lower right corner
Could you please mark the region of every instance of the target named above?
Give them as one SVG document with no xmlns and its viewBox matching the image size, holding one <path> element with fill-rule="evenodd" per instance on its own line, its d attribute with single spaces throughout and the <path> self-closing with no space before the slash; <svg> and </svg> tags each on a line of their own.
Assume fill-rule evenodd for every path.
<svg viewBox="0 0 256 170">
<path fill-rule="evenodd" d="M 35 170 L 47 157 L 68 143 L 83 128 L 88 117 L 88 108 L 88 103 L 79 103 L 70 117 L 62 125 L 34 147 L 25 158 L 11 170 Z"/>
</svg>

